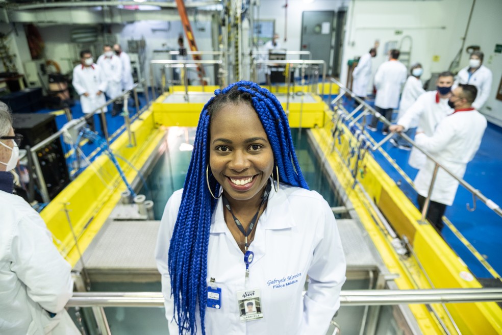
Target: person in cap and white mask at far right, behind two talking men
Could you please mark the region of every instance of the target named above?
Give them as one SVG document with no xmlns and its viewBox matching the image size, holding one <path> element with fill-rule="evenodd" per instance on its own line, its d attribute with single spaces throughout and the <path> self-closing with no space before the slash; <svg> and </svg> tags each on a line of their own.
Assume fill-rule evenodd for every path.
<svg viewBox="0 0 502 335">
<path fill-rule="evenodd" d="M 474 51 L 470 55 L 469 66 L 464 67 L 457 74 L 454 87 L 458 84 L 471 84 L 478 89 L 478 97 L 472 107 L 480 110 L 485 105 L 491 91 L 492 73 L 483 65 L 485 55 L 481 51 Z"/>
</svg>

